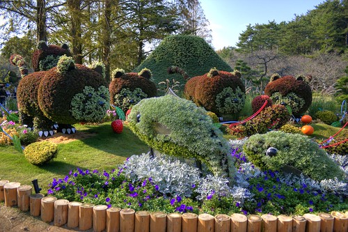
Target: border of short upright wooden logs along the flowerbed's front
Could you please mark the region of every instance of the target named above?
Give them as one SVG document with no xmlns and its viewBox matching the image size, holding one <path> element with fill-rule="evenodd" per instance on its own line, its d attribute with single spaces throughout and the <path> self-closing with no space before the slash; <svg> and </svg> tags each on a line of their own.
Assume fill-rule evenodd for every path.
<svg viewBox="0 0 348 232">
<path fill-rule="evenodd" d="M 130 208 L 108 208 L 92 203 L 69 202 L 55 196 L 32 194 L 29 185 L 0 180 L 0 202 L 6 207 L 17 206 L 33 217 L 54 226 L 95 232 L 347 232 L 346 212 L 285 215 L 196 215 L 164 212 L 135 212 Z"/>
</svg>

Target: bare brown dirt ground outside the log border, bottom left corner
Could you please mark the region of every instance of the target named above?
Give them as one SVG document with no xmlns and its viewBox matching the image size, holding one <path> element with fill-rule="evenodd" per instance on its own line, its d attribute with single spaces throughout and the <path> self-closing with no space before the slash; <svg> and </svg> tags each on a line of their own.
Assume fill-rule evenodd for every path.
<svg viewBox="0 0 348 232">
<path fill-rule="evenodd" d="M 22 212 L 17 207 L 6 207 L 4 203 L 0 203 L 0 232 L 20 231 L 66 232 L 79 231 L 79 229 L 67 229 L 66 225 L 62 227 L 53 226 L 53 222 L 47 224 L 46 222 L 42 222 L 40 217 L 32 217 L 29 212 Z M 93 229 L 90 229 L 86 232 L 92 231 Z"/>
</svg>

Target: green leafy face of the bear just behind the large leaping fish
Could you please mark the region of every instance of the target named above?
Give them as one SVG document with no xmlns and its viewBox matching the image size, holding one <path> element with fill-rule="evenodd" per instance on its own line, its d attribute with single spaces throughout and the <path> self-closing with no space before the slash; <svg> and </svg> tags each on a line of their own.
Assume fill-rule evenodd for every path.
<svg viewBox="0 0 348 232">
<path fill-rule="evenodd" d="M 141 88 L 135 88 L 134 91 L 130 91 L 129 88 L 122 88 L 120 93 L 117 93 L 114 98 L 114 104 L 123 111 L 127 111 L 132 105 L 136 105 L 142 99 L 148 98 L 148 95 Z"/>
</svg>

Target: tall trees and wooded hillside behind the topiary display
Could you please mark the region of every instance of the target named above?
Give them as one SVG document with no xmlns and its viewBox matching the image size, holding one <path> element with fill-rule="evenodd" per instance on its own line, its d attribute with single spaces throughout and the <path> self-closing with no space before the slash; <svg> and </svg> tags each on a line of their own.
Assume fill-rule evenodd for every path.
<svg viewBox="0 0 348 232">
<path fill-rule="evenodd" d="M 109 81 L 110 70 L 134 70 L 166 36 L 212 39 L 198 0 L 0 1 L 0 13 L 0 82 L 15 69 L 10 54 L 31 63 L 39 40 L 67 43 L 77 63 L 101 61 Z M 274 72 L 309 74 L 315 92 L 342 102 L 348 96 L 347 48 L 348 0 L 328 0 L 290 22 L 249 24 L 236 47 L 216 52 L 242 72 L 248 91 L 262 93 Z"/>
</svg>

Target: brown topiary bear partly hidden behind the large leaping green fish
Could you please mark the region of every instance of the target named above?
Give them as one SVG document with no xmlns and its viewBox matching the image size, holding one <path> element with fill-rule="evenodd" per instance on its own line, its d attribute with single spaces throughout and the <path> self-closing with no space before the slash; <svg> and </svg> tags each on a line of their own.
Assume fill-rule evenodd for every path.
<svg viewBox="0 0 348 232">
<path fill-rule="evenodd" d="M 140 100 L 155 97 L 157 88 L 151 81 L 151 76 L 151 71 L 146 68 L 139 73 L 125 73 L 122 69 L 113 70 L 113 79 L 109 85 L 111 104 L 127 111 Z"/>
</svg>

